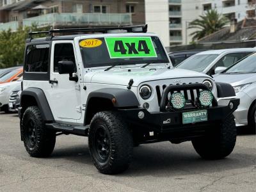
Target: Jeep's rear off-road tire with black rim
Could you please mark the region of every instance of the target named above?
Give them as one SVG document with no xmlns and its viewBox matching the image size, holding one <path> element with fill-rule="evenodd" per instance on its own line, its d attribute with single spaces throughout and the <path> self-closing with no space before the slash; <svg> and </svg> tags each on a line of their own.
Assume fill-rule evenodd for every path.
<svg viewBox="0 0 256 192">
<path fill-rule="evenodd" d="M 56 142 L 56 133 L 45 129 L 41 111 L 38 107 L 31 106 L 26 109 L 21 126 L 24 146 L 29 155 L 32 157 L 51 156 Z M 31 131 L 33 136 L 32 133 L 30 134 Z"/>
</svg>

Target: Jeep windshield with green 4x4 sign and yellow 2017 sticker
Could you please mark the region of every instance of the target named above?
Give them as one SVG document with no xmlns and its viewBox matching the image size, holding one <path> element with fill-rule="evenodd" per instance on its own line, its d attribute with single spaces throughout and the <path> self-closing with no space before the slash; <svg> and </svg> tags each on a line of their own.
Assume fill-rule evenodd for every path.
<svg viewBox="0 0 256 192">
<path fill-rule="evenodd" d="M 120 36 L 79 42 L 84 67 L 169 63 L 156 36 Z"/>
</svg>

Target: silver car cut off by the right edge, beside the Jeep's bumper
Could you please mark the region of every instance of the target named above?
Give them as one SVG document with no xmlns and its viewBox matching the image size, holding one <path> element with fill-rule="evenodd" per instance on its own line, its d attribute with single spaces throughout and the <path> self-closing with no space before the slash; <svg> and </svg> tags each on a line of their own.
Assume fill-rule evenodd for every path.
<svg viewBox="0 0 256 192">
<path fill-rule="evenodd" d="M 237 125 L 248 125 L 256 132 L 256 53 L 214 76 L 215 81 L 230 83 L 240 99 L 234 112 Z"/>
</svg>

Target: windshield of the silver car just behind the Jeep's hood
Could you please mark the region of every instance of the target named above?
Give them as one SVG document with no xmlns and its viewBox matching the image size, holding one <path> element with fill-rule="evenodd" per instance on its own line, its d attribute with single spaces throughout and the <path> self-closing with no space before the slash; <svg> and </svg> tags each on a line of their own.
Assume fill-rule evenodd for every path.
<svg viewBox="0 0 256 192">
<path fill-rule="evenodd" d="M 180 63 L 177 68 L 184 68 L 188 70 L 195 70 L 202 72 L 207 68 L 212 61 L 214 61 L 219 55 L 218 54 L 195 54 L 187 60 Z"/>
</svg>

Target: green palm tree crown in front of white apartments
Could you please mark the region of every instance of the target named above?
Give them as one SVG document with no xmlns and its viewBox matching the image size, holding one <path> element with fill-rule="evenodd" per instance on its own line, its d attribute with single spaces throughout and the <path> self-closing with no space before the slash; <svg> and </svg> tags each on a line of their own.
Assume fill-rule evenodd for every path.
<svg viewBox="0 0 256 192">
<path fill-rule="evenodd" d="M 219 14 L 216 10 L 207 10 L 205 15 L 199 16 L 189 23 L 189 29 L 198 29 L 191 33 L 193 40 L 198 40 L 222 29 L 228 23 L 227 17 Z"/>
</svg>

